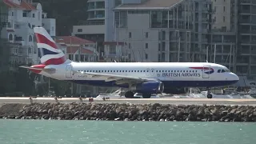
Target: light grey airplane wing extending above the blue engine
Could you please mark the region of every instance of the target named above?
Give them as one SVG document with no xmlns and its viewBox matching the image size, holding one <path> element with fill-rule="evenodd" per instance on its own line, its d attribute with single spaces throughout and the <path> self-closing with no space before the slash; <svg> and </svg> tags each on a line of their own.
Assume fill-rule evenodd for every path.
<svg viewBox="0 0 256 144">
<path fill-rule="evenodd" d="M 75 73 L 84 74 L 86 76 L 90 76 L 90 78 L 105 78 L 106 82 L 116 81 L 118 84 L 122 83 L 130 83 L 130 82 L 149 82 L 149 81 L 158 81 L 154 78 L 138 78 L 134 76 L 126 76 L 126 75 L 116 75 L 116 74 L 101 74 L 101 73 L 91 73 L 91 72 L 78 72 Z"/>
</svg>

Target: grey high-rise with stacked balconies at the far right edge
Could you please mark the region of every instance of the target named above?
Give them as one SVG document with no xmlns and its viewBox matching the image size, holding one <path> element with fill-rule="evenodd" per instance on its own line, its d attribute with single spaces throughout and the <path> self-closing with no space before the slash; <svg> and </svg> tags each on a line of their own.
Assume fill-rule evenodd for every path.
<svg viewBox="0 0 256 144">
<path fill-rule="evenodd" d="M 256 1 L 238 1 L 236 72 L 256 76 Z"/>
</svg>

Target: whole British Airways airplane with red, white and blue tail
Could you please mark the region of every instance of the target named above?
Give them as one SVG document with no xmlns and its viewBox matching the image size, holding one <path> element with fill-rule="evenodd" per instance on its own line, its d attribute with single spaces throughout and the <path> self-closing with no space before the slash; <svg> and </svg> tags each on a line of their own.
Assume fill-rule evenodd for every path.
<svg viewBox="0 0 256 144">
<path fill-rule="evenodd" d="M 178 93 L 183 87 L 230 86 L 239 81 L 226 66 L 210 62 L 73 62 L 43 27 L 34 27 L 41 64 L 20 66 L 46 77 L 90 86 L 127 88 L 126 98 L 134 93 Z"/>
</svg>

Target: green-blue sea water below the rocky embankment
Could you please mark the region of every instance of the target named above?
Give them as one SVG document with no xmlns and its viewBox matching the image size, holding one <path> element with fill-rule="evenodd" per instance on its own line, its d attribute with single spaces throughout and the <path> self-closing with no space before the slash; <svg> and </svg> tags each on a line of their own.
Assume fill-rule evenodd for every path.
<svg viewBox="0 0 256 144">
<path fill-rule="evenodd" d="M 253 122 L 0 120 L 1 144 L 254 144 Z"/>
</svg>

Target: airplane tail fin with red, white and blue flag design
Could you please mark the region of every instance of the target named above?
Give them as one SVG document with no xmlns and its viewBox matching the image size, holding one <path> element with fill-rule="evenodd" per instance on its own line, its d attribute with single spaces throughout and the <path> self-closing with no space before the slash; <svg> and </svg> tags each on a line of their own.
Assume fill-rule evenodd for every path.
<svg viewBox="0 0 256 144">
<path fill-rule="evenodd" d="M 43 65 L 60 65 L 66 62 L 65 54 L 58 49 L 53 38 L 43 27 L 34 27 L 34 34 L 37 39 L 38 56 Z"/>
</svg>

